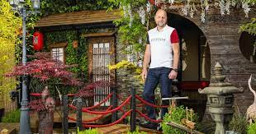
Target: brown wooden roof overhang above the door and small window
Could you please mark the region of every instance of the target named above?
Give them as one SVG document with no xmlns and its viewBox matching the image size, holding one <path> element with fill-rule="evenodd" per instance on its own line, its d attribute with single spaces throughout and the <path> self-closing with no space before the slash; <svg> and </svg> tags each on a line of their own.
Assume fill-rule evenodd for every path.
<svg viewBox="0 0 256 134">
<path fill-rule="evenodd" d="M 35 27 L 79 27 L 83 25 L 101 26 L 112 25 L 112 22 L 121 18 L 118 10 L 107 11 L 83 11 L 59 13 L 40 18 Z"/>
</svg>

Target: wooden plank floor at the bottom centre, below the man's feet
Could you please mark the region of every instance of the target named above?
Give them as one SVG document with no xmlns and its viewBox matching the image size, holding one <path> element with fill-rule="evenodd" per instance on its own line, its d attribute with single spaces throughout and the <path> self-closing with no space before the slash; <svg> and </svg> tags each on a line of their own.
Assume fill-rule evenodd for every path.
<svg viewBox="0 0 256 134">
<path fill-rule="evenodd" d="M 111 127 L 98 127 L 97 130 L 99 132 L 102 132 L 103 134 L 121 134 L 121 133 L 125 134 L 127 131 L 130 130 L 130 125 L 116 124 Z M 139 130 L 142 132 L 147 132 L 148 134 L 162 134 L 162 132 L 159 132 L 153 129 L 144 128 L 144 127 L 139 127 Z"/>
</svg>

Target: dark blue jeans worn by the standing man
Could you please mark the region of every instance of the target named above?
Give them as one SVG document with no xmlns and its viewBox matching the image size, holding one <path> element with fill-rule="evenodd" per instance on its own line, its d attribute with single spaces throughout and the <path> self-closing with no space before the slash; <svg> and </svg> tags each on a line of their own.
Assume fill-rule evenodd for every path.
<svg viewBox="0 0 256 134">
<path fill-rule="evenodd" d="M 172 80 L 168 78 L 171 68 L 158 67 L 149 68 L 147 78 L 145 81 L 145 87 L 143 91 L 143 98 L 150 104 L 154 104 L 154 90 L 158 84 L 160 84 L 161 97 L 168 98 L 172 96 Z M 162 105 L 168 105 L 168 100 L 163 100 Z M 155 119 L 155 109 L 149 105 L 145 106 L 149 118 Z M 164 114 L 168 113 L 167 108 L 161 109 L 161 118 L 164 118 Z"/>
</svg>

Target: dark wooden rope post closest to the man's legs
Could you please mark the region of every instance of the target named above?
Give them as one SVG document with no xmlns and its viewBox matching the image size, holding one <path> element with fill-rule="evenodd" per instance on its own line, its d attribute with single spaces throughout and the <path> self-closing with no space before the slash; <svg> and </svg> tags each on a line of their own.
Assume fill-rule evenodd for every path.
<svg viewBox="0 0 256 134">
<path fill-rule="evenodd" d="M 131 88 L 131 115 L 130 115 L 130 132 L 135 132 L 136 129 L 136 98 L 135 88 Z"/>
</svg>

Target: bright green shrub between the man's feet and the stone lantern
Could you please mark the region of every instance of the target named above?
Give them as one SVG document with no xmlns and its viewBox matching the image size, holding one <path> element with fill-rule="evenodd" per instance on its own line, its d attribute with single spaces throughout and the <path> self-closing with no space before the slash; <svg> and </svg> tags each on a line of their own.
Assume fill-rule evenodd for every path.
<svg viewBox="0 0 256 134">
<path fill-rule="evenodd" d="M 186 132 L 184 132 L 183 130 L 179 130 L 178 128 L 174 128 L 174 127 L 171 127 L 166 124 L 167 122 L 177 122 L 177 123 L 181 124 L 181 120 L 183 118 L 187 117 L 186 109 L 184 109 L 184 106 L 181 105 L 176 108 L 169 109 L 169 111 L 172 111 L 171 114 L 166 113 L 164 115 L 163 122 L 161 122 L 163 132 L 164 133 L 175 133 L 175 134 L 186 134 Z M 198 123 L 197 120 L 198 120 L 197 114 L 192 113 L 192 122 Z"/>
</svg>

